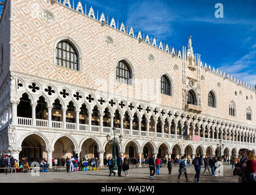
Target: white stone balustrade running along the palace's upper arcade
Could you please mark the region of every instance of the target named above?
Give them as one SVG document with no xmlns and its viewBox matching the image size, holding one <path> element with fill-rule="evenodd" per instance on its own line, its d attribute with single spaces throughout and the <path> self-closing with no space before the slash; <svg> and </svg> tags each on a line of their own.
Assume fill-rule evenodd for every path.
<svg viewBox="0 0 256 195">
<path fill-rule="evenodd" d="M 32 118 L 23 118 L 23 117 L 17 117 L 17 122 L 18 125 L 20 126 L 32 126 Z M 36 119 L 35 121 L 35 126 L 36 127 L 48 127 L 48 120 L 44 120 L 44 119 Z M 78 126 L 78 130 L 80 131 L 85 131 L 85 132 L 89 132 L 89 125 L 88 124 L 79 124 Z M 63 122 L 62 121 L 51 121 L 51 128 L 53 129 L 63 129 Z M 66 122 L 66 128 L 64 129 L 68 129 L 68 130 L 77 130 L 77 124 L 73 123 L 73 122 Z M 102 127 L 103 129 L 103 133 L 113 133 L 113 130 L 111 129 L 111 127 Z M 100 126 L 91 126 L 91 132 L 100 132 Z M 116 133 L 117 134 L 121 134 L 121 128 L 116 128 Z M 139 130 L 130 130 L 130 129 L 123 129 L 123 135 L 132 135 L 132 136 L 136 136 L 136 137 L 151 137 L 151 138 L 161 138 L 161 139 L 171 139 L 171 140 L 175 140 L 175 135 L 171 134 L 169 135 L 169 133 L 159 133 L 157 132 L 155 134 L 155 132 L 146 132 L 141 130 L 141 132 Z M 183 138 L 183 135 L 177 135 L 177 139 L 181 140 Z M 185 140 L 185 138 L 184 138 Z M 191 140 L 191 139 L 190 139 Z M 200 137 L 200 141 L 203 141 L 203 137 Z M 215 138 L 205 138 L 205 142 L 207 143 L 209 141 L 209 143 L 217 143 L 217 139 Z M 244 146 L 254 146 L 255 143 L 244 143 L 243 141 L 233 141 L 233 140 L 222 140 L 222 143 L 225 144 L 238 144 L 238 145 L 244 145 Z"/>
</svg>

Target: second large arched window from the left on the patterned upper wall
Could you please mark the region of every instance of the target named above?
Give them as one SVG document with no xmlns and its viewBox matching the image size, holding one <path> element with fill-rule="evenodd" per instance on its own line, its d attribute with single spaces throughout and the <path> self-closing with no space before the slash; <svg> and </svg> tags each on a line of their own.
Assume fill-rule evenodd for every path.
<svg viewBox="0 0 256 195">
<path fill-rule="evenodd" d="M 116 66 L 116 80 L 121 83 L 132 85 L 132 71 L 127 63 L 122 60 Z"/>
</svg>

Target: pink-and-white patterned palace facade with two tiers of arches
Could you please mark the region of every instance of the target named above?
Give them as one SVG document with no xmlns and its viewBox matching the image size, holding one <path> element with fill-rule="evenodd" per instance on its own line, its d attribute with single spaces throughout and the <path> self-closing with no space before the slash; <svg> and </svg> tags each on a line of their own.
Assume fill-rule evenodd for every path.
<svg viewBox="0 0 256 195">
<path fill-rule="evenodd" d="M 6 1 L 0 37 L 0 151 L 16 159 L 102 166 L 113 127 L 140 161 L 255 151 L 255 87 L 204 65 L 192 37 L 177 50 L 69 0 Z"/>
</svg>

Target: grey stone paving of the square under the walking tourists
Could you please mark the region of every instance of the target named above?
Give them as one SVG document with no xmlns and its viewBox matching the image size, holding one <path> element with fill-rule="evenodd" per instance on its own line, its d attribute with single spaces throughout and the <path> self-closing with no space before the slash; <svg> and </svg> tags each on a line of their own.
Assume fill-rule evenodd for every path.
<svg viewBox="0 0 256 195">
<path fill-rule="evenodd" d="M 237 183 L 238 177 L 233 176 L 231 166 L 224 166 L 224 177 L 210 177 L 209 172 L 203 175 L 204 167 L 201 169 L 201 183 Z M 108 177 L 108 169 L 100 171 L 78 171 L 67 173 L 66 171 L 40 172 L 40 176 L 33 177 L 29 173 L 0 174 L 0 183 L 176 183 L 178 178 L 178 167 L 174 167 L 171 175 L 167 168 L 160 168 L 160 176 L 155 175 L 154 180 L 149 179 L 149 168 L 137 168 L 129 170 L 129 177 Z M 194 183 L 195 169 L 193 166 L 187 168 L 189 182 Z M 117 175 L 117 174 L 116 174 Z M 122 172 L 124 176 L 124 172 Z M 186 182 L 184 174 L 181 175 L 181 183 Z"/>
</svg>

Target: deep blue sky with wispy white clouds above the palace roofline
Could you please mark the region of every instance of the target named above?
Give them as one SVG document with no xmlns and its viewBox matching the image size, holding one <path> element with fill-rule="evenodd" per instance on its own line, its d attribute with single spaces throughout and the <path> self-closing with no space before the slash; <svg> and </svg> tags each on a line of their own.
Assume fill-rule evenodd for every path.
<svg viewBox="0 0 256 195">
<path fill-rule="evenodd" d="M 87 12 L 92 6 L 99 15 L 114 16 L 136 34 L 141 30 L 175 49 L 187 47 L 192 35 L 194 53 L 201 54 L 203 62 L 256 84 L 255 0 L 80 1 Z M 224 5 L 224 18 L 214 16 L 219 2 Z"/>
</svg>

